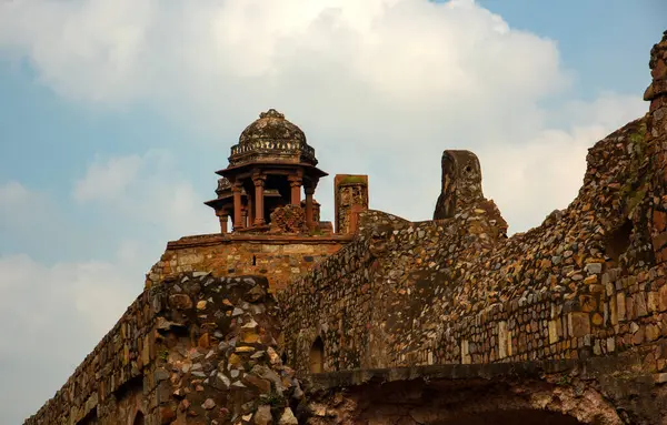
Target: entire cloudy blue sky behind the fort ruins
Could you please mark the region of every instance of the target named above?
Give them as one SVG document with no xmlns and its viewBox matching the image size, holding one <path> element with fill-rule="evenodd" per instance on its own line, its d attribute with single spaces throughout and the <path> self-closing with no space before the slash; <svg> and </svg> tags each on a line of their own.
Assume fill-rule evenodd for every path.
<svg viewBox="0 0 667 425">
<path fill-rule="evenodd" d="M 219 229 L 202 202 L 260 112 L 414 221 L 442 151 L 471 150 L 522 232 L 647 112 L 665 16 L 663 0 L 0 0 L 0 423 L 56 393 L 167 241 Z"/>
</svg>

